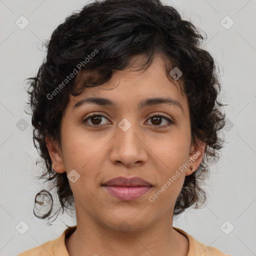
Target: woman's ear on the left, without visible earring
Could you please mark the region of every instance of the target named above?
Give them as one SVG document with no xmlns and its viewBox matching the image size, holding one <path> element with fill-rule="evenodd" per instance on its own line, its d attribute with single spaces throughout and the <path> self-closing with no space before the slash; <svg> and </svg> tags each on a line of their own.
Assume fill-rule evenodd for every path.
<svg viewBox="0 0 256 256">
<path fill-rule="evenodd" d="M 48 136 L 45 137 L 46 146 L 52 162 L 52 168 L 58 173 L 65 172 L 61 149 L 56 141 L 51 140 Z"/>
</svg>

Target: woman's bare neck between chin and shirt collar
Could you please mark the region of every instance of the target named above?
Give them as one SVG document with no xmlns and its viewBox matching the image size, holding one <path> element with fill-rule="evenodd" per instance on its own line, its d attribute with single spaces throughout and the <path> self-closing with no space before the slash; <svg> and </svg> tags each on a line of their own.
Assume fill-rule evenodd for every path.
<svg viewBox="0 0 256 256">
<path fill-rule="evenodd" d="M 157 223 L 139 229 L 125 223 L 124 229 L 114 229 L 88 216 L 76 219 L 76 230 L 65 241 L 70 256 L 187 256 L 188 253 L 188 240 L 172 228 L 172 217 L 163 216 Z"/>
</svg>

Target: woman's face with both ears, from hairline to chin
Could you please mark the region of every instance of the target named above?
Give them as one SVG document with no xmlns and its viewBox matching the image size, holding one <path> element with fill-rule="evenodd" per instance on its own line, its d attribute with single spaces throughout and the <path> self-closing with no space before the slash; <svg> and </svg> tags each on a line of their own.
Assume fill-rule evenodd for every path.
<svg viewBox="0 0 256 256">
<path fill-rule="evenodd" d="M 80 101 L 90 97 L 107 101 Z M 70 173 L 77 223 L 90 219 L 115 230 L 123 221 L 136 230 L 172 218 L 189 166 L 199 166 L 204 149 L 191 145 L 187 98 L 166 77 L 160 57 L 144 72 L 116 71 L 107 83 L 70 95 L 60 137 L 59 147 L 46 142 L 53 169 Z M 102 184 L 120 176 L 151 186 L 133 187 L 134 194 L 125 190 L 127 197 L 120 188 L 113 195 Z"/>
</svg>

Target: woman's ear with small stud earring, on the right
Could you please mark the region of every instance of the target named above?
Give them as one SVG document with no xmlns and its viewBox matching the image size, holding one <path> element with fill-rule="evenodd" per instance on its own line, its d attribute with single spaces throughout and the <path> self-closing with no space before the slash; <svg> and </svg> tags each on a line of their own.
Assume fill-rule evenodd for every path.
<svg viewBox="0 0 256 256">
<path fill-rule="evenodd" d="M 187 159 L 186 176 L 192 174 L 200 165 L 204 155 L 205 143 L 196 138 L 196 143 L 190 146 L 189 158 Z M 193 168 L 192 170 L 190 169 Z"/>
</svg>

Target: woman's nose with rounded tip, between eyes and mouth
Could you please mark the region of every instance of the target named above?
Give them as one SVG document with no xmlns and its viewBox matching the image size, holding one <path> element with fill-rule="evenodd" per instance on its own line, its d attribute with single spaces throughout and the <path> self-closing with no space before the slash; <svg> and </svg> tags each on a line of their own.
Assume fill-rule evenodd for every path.
<svg viewBox="0 0 256 256">
<path fill-rule="evenodd" d="M 134 126 L 132 124 L 126 131 L 116 127 L 109 153 L 109 159 L 113 164 L 135 167 L 146 162 L 148 149 Z"/>
</svg>

